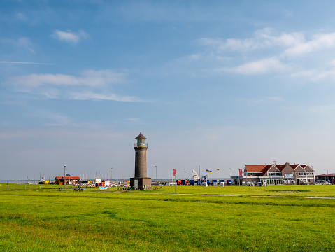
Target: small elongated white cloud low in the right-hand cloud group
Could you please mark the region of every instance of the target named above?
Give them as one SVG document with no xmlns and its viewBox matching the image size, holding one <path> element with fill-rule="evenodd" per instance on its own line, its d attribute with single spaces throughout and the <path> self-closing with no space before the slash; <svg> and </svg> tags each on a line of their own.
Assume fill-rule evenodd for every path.
<svg viewBox="0 0 335 252">
<path fill-rule="evenodd" d="M 289 68 L 285 64 L 282 64 L 278 59 L 261 59 L 259 61 L 250 62 L 236 67 L 222 67 L 217 71 L 227 71 L 231 73 L 239 74 L 260 74 L 260 73 L 269 73 L 272 71 L 287 71 Z"/>
</svg>

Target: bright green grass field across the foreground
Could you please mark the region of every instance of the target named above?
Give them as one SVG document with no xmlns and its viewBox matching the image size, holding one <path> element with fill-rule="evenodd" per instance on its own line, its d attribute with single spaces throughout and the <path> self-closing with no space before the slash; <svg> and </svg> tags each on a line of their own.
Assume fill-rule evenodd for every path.
<svg viewBox="0 0 335 252">
<path fill-rule="evenodd" d="M 335 251 L 335 186 L 57 188 L 0 186 L 0 251 Z"/>
</svg>

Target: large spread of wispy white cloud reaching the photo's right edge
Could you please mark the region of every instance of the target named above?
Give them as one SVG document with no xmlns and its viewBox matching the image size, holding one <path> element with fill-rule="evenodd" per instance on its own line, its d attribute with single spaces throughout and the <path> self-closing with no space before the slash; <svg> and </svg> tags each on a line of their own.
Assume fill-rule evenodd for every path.
<svg viewBox="0 0 335 252">
<path fill-rule="evenodd" d="M 251 38 L 201 38 L 197 42 L 206 48 L 202 58 L 221 65 L 209 71 L 211 73 L 288 73 L 287 76 L 312 81 L 335 77 L 334 53 L 329 53 L 329 50 L 335 50 L 335 33 L 314 34 L 308 39 L 304 32 L 278 34 L 274 29 L 266 28 L 256 31 Z M 318 53 L 315 64 L 311 60 L 302 60 L 313 57 L 313 53 Z M 226 60 L 220 62 L 218 57 Z"/>
</svg>

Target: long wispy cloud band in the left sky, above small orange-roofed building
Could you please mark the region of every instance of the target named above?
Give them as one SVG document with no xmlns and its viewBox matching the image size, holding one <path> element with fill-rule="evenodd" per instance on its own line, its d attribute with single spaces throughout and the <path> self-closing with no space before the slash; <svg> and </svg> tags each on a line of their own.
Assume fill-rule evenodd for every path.
<svg viewBox="0 0 335 252">
<path fill-rule="evenodd" d="M 150 102 L 136 96 L 117 95 L 115 84 L 124 83 L 125 73 L 110 69 L 83 71 L 80 76 L 65 74 L 30 74 L 15 76 L 6 84 L 15 92 L 24 92 L 43 99 L 110 100 L 117 102 Z"/>
</svg>

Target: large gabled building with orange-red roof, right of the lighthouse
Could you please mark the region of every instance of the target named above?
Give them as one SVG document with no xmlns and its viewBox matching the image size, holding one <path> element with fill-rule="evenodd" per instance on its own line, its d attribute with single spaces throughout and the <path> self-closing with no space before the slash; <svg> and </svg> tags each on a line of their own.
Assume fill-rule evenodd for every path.
<svg viewBox="0 0 335 252">
<path fill-rule="evenodd" d="M 256 185 L 315 185 L 314 170 L 309 165 L 285 163 L 285 165 L 245 165 L 245 183 Z"/>
</svg>

